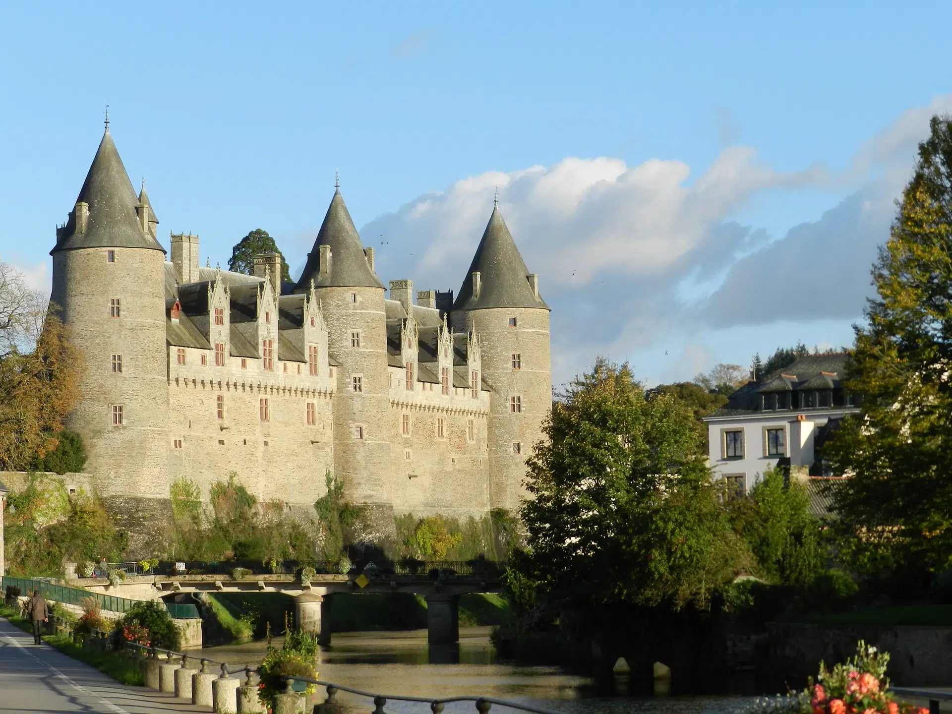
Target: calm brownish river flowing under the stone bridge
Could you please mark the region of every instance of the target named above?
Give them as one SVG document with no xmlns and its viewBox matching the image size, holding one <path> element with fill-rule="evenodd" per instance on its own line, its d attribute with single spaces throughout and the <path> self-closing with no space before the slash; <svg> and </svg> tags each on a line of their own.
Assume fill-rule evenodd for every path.
<svg viewBox="0 0 952 714">
<path fill-rule="evenodd" d="M 457 647 L 430 647 L 426 630 L 335 632 L 318 657 L 319 679 L 355 689 L 413 697 L 461 695 L 496 697 L 536 704 L 565 714 L 734 714 L 750 697 L 605 697 L 587 677 L 558 667 L 497 662 L 489 627 L 461 627 Z M 275 638 L 275 646 L 280 639 Z M 264 642 L 220 645 L 202 656 L 229 664 L 258 664 Z M 196 652 L 197 654 L 197 652 Z M 349 711 L 370 712 L 373 705 L 342 693 Z M 426 704 L 388 702 L 387 712 L 429 714 Z M 503 711 L 493 707 L 493 711 Z M 471 703 L 446 705 L 446 714 L 475 714 Z M 506 710 L 511 712 L 511 709 Z"/>
</svg>

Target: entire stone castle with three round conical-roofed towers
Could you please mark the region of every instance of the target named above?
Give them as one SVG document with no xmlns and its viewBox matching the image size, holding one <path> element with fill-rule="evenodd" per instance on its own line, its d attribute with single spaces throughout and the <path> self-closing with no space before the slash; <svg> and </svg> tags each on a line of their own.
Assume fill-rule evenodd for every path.
<svg viewBox="0 0 952 714">
<path fill-rule="evenodd" d="M 498 206 L 455 300 L 414 300 L 410 280 L 385 297 L 339 188 L 293 284 L 277 253 L 253 276 L 201 267 L 190 234 L 168 262 L 158 223 L 107 123 L 56 230 L 51 300 L 85 354 L 67 426 L 132 550 L 168 525 L 182 476 L 207 500 L 234 472 L 313 515 L 330 472 L 391 523 L 519 506 L 551 407 L 549 307 Z"/>
</svg>

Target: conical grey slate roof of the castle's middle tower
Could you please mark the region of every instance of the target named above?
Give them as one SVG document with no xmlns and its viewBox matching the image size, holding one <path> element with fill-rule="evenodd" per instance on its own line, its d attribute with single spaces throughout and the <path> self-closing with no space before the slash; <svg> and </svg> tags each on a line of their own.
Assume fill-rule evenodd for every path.
<svg viewBox="0 0 952 714">
<path fill-rule="evenodd" d="M 330 266 L 324 273 L 321 272 L 321 246 L 330 248 Z M 334 191 L 324 223 L 321 224 L 314 241 L 314 248 L 307 253 L 307 265 L 294 289 L 310 288 L 311 279 L 316 288 L 384 288 L 380 278 L 367 263 L 364 244 L 361 243 L 357 228 L 354 228 L 354 222 L 350 219 L 339 189 Z"/>
</svg>

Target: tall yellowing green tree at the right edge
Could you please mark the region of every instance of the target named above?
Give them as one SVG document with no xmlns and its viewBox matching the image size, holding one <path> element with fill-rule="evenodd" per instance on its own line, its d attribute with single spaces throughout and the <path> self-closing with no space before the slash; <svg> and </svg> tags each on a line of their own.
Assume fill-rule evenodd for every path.
<svg viewBox="0 0 952 714">
<path fill-rule="evenodd" d="M 824 451 L 853 475 L 833 491 L 843 562 L 907 586 L 952 565 L 952 117 L 930 129 L 854 327 L 861 413 Z"/>
</svg>

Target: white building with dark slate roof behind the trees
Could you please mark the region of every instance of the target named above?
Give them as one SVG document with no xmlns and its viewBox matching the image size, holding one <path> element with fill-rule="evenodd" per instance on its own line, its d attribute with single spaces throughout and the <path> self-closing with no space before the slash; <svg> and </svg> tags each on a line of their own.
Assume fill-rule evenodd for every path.
<svg viewBox="0 0 952 714">
<path fill-rule="evenodd" d="M 744 385 L 724 407 L 704 417 L 716 476 L 743 494 L 778 463 L 801 478 L 833 475 L 817 449 L 844 415 L 859 410 L 843 390 L 846 357 L 802 357 Z"/>
</svg>

